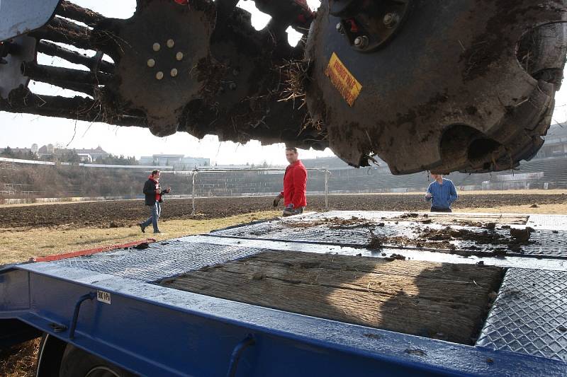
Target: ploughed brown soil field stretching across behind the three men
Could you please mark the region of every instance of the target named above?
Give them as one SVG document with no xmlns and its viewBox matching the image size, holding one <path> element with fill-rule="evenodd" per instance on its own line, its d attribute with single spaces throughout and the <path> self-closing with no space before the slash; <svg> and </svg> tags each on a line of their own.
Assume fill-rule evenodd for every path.
<svg viewBox="0 0 567 377">
<path fill-rule="evenodd" d="M 422 195 L 330 195 L 330 209 L 378 211 L 427 211 Z M 532 207 L 533 205 L 537 207 Z M 56 207 L 54 207 L 56 206 Z M 561 194 L 464 194 L 454 211 L 523 211 L 565 213 L 567 195 Z M 507 207 L 515 207 L 507 209 Z M 221 197 L 196 199 L 196 216 L 191 216 L 191 199 L 164 203 L 162 219 L 217 219 L 254 211 L 272 211 L 271 197 Z M 308 209 L 325 210 L 324 196 L 308 197 Z M 145 219 L 148 209 L 141 200 L 24 205 L 0 208 L 0 228 L 28 230 L 36 227 L 109 228 L 132 226 Z M 112 224 L 112 225 L 111 225 Z"/>
</svg>

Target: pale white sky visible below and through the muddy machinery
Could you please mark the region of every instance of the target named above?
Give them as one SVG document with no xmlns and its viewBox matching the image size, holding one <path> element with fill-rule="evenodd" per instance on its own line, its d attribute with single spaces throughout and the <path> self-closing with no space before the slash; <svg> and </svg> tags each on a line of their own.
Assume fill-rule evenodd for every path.
<svg viewBox="0 0 567 377">
<path fill-rule="evenodd" d="M 104 16 L 128 18 L 135 9 L 135 0 L 100 1 L 73 0 L 74 3 L 91 8 Z M 311 8 L 316 8 L 318 0 L 308 0 Z M 240 1 L 239 6 L 252 13 L 252 25 L 261 29 L 269 21 L 269 16 L 257 11 L 253 1 Z M 293 30 L 291 30 L 293 32 Z M 290 42 L 298 40 L 298 34 L 290 33 Z M 56 64 L 69 68 L 84 69 L 82 66 L 68 64 L 60 59 L 38 56 L 41 64 Z M 39 94 L 74 95 L 44 83 L 30 83 L 30 89 Z M 556 93 L 555 122 L 567 120 L 567 85 Z M 247 144 L 232 142 L 220 143 L 217 137 L 207 136 L 196 139 L 186 132 L 178 132 L 172 136 L 159 138 L 153 136 L 148 129 L 140 127 L 116 127 L 103 123 L 76 122 L 37 115 L 13 114 L 0 112 L 0 147 L 11 146 L 29 148 L 31 144 L 54 144 L 67 148 L 96 148 L 101 146 L 113 154 L 125 156 L 151 156 L 156 153 L 175 153 L 185 156 L 210 158 L 211 163 L 245 164 L 267 163 L 285 165 L 286 158 L 283 144 L 262 146 L 258 141 Z M 334 156 L 329 149 L 325 151 L 300 151 L 301 158 Z"/>
</svg>

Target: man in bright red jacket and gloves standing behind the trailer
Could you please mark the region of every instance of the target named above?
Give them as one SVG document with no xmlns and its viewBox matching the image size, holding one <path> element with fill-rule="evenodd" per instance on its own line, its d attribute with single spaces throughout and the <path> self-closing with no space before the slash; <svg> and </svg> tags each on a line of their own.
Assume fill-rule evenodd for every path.
<svg viewBox="0 0 567 377">
<path fill-rule="evenodd" d="M 299 160 L 299 153 L 296 148 L 286 148 L 286 158 L 289 166 L 286 174 L 283 175 L 283 191 L 274 199 L 274 207 L 278 207 L 279 201 L 283 198 L 283 216 L 301 214 L 307 205 L 305 191 L 307 188 L 307 170 Z"/>
</svg>

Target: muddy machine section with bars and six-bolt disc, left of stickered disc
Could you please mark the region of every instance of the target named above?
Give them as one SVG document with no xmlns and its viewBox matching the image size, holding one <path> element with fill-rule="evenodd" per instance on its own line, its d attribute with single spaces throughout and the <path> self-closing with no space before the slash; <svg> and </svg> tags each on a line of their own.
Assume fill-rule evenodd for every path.
<svg viewBox="0 0 567 377">
<path fill-rule="evenodd" d="M 30 9 L 38 3 L 22 2 Z M 3 1 L 0 8 L 14 24 L 6 15 L 15 3 Z M 186 131 L 325 148 L 320 130 L 303 126 L 306 106 L 281 100 L 285 67 L 303 59 L 303 45 L 291 47 L 286 28 L 308 30 L 313 14 L 301 0 L 275 9 L 258 3 L 278 14 L 260 31 L 235 0 L 137 0 L 127 20 L 60 1 L 42 10 L 50 15 L 43 15 L 45 25 L 33 23 L 24 35 L 8 37 L 14 28 L 0 34 L 6 63 L 0 65 L 0 110 L 148 127 L 157 136 Z M 38 53 L 83 68 L 38 64 Z M 30 79 L 84 95 L 36 95 Z"/>
</svg>

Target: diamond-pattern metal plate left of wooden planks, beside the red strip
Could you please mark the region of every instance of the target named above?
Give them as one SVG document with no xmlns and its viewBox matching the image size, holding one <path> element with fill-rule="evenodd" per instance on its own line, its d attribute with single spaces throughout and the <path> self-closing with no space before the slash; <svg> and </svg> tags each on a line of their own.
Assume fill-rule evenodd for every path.
<svg viewBox="0 0 567 377">
<path fill-rule="evenodd" d="M 187 237 L 153 243 L 145 250 L 118 249 L 51 263 L 153 282 L 208 265 L 248 257 L 262 251 L 264 249 L 193 243 L 191 238 Z"/>
</svg>

